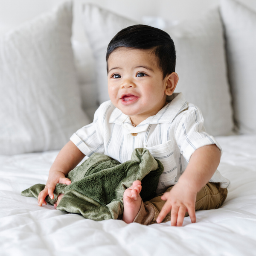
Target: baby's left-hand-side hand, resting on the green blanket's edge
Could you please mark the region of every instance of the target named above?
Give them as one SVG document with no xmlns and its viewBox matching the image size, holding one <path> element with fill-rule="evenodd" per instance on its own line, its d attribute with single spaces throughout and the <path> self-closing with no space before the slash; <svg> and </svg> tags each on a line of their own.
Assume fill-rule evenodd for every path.
<svg viewBox="0 0 256 256">
<path fill-rule="evenodd" d="M 42 204 L 47 204 L 45 201 L 45 198 L 47 195 L 49 195 L 51 199 L 54 198 L 53 191 L 57 183 L 69 185 L 71 183 L 71 180 L 66 178 L 63 172 L 60 172 L 60 171 L 49 172 L 49 177 L 45 185 L 45 188 L 38 195 L 39 206 L 42 206 Z"/>
</svg>

